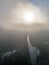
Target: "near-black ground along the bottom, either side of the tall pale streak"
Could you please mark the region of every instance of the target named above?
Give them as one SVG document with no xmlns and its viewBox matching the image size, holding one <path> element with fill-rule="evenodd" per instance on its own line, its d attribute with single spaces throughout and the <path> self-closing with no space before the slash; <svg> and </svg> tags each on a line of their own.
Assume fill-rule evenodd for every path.
<svg viewBox="0 0 49 65">
<path fill-rule="evenodd" d="M 5 56 L 2 58 L 0 55 L 0 65 L 32 65 L 31 59 L 28 54 L 22 55 L 20 52 L 11 54 L 10 56 Z M 49 65 L 49 55 L 40 54 L 37 57 L 36 65 Z"/>
</svg>

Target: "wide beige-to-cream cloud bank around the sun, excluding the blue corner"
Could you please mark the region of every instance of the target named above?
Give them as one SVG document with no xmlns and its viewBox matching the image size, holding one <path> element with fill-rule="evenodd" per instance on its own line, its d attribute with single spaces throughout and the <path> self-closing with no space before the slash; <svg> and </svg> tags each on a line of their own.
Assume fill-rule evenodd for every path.
<svg viewBox="0 0 49 65">
<path fill-rule="evenodd" d="M 31 10 L 34 16 L 34 23 L 47 24 L 48 19 L 40 6 L 36 6 L 29 1 L 24 0 L 2 0 L 0 1 L 0 26 L 2 28 L 15 29 L 15 24 L 24 23 L 22 14 Z"/>
</svg>

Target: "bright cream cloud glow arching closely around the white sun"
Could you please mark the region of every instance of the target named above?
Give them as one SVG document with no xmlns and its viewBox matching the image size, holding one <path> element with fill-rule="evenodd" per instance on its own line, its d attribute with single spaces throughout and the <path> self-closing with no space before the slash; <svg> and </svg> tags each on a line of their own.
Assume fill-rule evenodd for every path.
<svg viewBox="0 0 49 65">
<path fill-rule="evenodd" d="M 32 11 L 34 13 L 34 23 L 47 23 L 45 13 L 42 12 L 39 6 L 35 6 L 31 3 L 18 2 L 16 7 L 11 9 L 10 16 L 12 17 L 12 22 L 15 23 L 24 23 L 22 20 L 23 13 L 25 11 Z"/>
</svg>

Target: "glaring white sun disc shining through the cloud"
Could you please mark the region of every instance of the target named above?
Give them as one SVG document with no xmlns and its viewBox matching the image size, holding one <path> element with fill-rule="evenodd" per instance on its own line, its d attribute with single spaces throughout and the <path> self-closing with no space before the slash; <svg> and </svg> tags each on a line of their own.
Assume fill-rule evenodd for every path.
<svg viewBox="0 0 49 65">
<path fill-rule="evenodd" d="M 33 12 L 31 11 L 27 11 L 23 14 L 23 20 L 26 24 L 32 24 L 33 18 L 34 18 L 34 15 L 33 15 Z"/>
</svg>

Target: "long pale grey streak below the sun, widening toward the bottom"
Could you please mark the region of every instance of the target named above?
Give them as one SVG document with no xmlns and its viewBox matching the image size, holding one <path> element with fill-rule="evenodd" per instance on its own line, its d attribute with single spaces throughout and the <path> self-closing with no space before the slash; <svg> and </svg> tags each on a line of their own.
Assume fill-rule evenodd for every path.
<svg viewBox="0 0 49 65">
<path fill-rule="evenodd" d="M 31 57 L 31 63 L 32 65 L 36 65 L 37 56 L 39 56 L 40 51 L 36 47 L 33 47 L 30 43 L 29 36 L 27 36 L 28 41 L 28 48 L 29 48 L 29 54 Z"/>
</svg>

